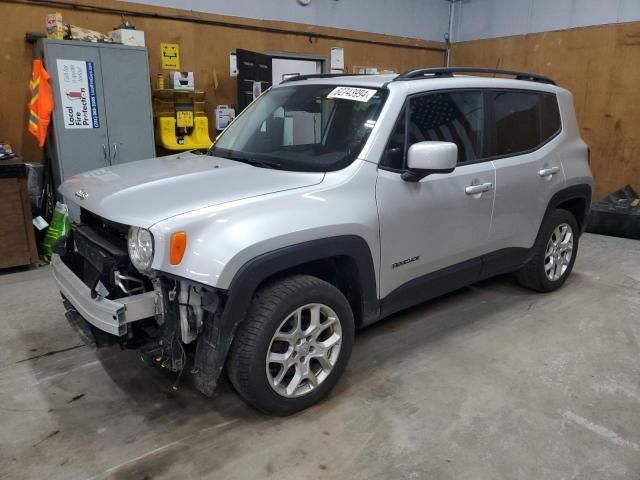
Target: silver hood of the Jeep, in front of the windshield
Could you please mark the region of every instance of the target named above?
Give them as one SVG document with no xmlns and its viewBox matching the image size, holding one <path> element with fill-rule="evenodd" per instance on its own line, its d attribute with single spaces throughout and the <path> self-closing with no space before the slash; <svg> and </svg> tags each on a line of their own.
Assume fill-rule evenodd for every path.
<svg viewBox="0 0 640 480">
<path fill-rule="evenodd" d="M 108 220 L 149 227 L 175 215 L 316 185 L 324 173 L 273 170 L 182 153 L 100 168 L 60 186 L 65 201 Z"/>
</svg>

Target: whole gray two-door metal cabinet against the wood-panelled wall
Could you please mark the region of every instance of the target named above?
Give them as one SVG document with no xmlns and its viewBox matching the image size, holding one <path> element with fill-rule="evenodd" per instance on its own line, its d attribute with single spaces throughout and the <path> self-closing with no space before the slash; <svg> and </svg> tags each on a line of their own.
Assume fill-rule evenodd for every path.
<svg viewBox="0 0 640 480">
<path fill-rule="evenodd" d="M 155 156 L 147 50 L 40 40 L 51 76 L 54 185 L 96 168 Z"/>
</svg>

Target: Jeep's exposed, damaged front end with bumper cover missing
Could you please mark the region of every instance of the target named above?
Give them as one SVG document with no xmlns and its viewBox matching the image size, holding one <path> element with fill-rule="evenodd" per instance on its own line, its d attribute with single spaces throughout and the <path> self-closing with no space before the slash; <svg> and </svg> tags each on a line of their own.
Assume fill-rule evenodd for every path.
<svg viewBox="0 0 640 480">
<path fill-rule="evenodd" d="M 227 292 L 161 271 L 142 276 L 125 248 L 122 235 L 99 225 L 74 225 L 56 242 L 53 277 L 70 325 L 88 344 L 136 349 L 178 378 L 189 368 L 196 388 L 212 395 L 235 331 Z"/>
</svg>

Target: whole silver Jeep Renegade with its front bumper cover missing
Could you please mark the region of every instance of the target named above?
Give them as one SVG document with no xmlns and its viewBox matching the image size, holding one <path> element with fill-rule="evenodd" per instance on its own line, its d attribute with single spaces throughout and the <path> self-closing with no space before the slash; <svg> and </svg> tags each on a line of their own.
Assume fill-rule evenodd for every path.
<svg viewBox="0 0 640 480">
<path fill-rule="evenodd" d="M 571 94 L 546 77 L 296 77 L 206 155 L 65 182 L 79 213 L 53 274 L 85 341 L 187 369 L 207 395 L 225 370 L 287 415 L 336 385 L 357 328 L 497 274 L 559 288 L 587 157 Z"/>
</svg>

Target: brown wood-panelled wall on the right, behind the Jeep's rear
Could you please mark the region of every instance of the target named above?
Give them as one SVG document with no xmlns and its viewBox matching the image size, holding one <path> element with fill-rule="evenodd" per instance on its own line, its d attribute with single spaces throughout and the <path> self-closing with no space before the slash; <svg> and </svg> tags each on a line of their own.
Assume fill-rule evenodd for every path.
<svg viewBox="0 0 640 480">
<path fill-rule="evenodd" d="M 640 192 L 640 22 L 461 42 L 452 65 L 554 78 L 574 95 L 597 197 Z"/>
</svg>

